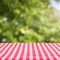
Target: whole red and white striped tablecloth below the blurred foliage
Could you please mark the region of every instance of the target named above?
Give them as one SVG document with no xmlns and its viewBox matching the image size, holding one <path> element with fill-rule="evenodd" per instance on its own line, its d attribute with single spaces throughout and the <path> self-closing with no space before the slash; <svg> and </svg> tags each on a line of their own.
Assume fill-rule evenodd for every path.
<svg viewBox="0 0 60 60">
<path fill-rule="evenodd" d="M 0 60 L 60 60 L 60 43 L 0 43 Z"/>
</svg>

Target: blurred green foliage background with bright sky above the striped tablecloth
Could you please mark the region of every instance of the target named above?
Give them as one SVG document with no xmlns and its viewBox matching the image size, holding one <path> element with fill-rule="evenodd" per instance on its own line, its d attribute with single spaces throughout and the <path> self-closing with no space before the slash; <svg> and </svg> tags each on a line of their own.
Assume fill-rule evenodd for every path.
<svg viewBox="0 0 60 60">
<path fill-rule="evenodd" d="M 0 0 L 0 42 L 60 42 L 60 0 Z"/>
</svg>

